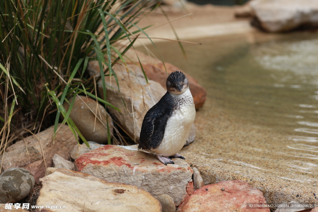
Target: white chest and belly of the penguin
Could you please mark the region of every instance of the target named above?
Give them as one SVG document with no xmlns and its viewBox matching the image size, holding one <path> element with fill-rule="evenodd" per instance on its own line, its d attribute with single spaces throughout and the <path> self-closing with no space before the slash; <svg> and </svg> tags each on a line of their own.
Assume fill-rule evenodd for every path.
<svg viewBox="0 0 318 212">
<path fill-rule="evenodd" d="M 173 110 L 167 120 L 161 144 L 156 149 L 151 149 L 155 154 L 164 157 L 175 155 L 182 149 L 189 137 L 190 128 L 196 115 L 190 90 L 188 89 L 179 96 L 180 106 Z"/>
</svg>

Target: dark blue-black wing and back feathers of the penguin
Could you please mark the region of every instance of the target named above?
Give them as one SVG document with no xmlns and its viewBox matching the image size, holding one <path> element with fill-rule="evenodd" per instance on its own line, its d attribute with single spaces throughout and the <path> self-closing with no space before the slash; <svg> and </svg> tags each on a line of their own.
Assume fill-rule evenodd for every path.
<svg viewBox="0 0 318 212">
<path fill-rule="evenodd" d="M 173 108 L 174 99 L 166 92 L 159 102 L 149 109 L 142 122 L 138 149 L 150 150 L 159 147 Z"/>
</svg>

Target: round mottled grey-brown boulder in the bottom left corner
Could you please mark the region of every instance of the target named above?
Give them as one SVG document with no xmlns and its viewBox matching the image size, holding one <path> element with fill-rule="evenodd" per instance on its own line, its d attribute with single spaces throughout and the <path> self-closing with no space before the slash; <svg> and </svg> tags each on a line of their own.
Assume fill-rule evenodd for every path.
<svg viewBox="0 0 318 212">
<path fill-rule="evenodd" d="M 0 175 L 0 203 L 15 203 L 26 197 L 34 177 L 24 168 L 8 168 Z"/>
</svg>

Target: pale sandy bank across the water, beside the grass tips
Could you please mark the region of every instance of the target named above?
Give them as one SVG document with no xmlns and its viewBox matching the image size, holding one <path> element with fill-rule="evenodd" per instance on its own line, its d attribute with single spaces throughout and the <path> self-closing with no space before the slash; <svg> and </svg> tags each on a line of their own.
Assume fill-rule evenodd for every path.
<svg viewBox="0 0 318 212">
<path fill-rule="evenodd" d="M 234 17 L 234 7 L 200 6 L 187 3 L 186 8 L 188 11 L 185 11 L 182 7 L 171 8 L 163 5 L 162 8 L 166 11 L 180 40 L 255 31 L 251 27 L 249 20 Z M 170 24 L 167 22 L 166 17 L 157 9 L 142 18 L 138 26 L 142 28 L 153 25 L 149 29 L 146 29 L 145 32 L 150 38 L 153 38 L 154 42 L 163 41 L 157 38 L 176 39 Z M 167 24 L 162 25 L 163 23 Z M 151 43 L 144 34 L 141 34 L 140 38 L 135 46 Z"/>
</svg>

